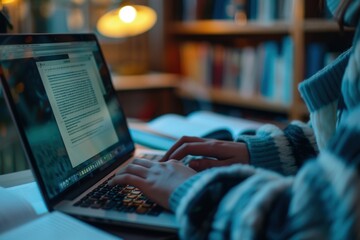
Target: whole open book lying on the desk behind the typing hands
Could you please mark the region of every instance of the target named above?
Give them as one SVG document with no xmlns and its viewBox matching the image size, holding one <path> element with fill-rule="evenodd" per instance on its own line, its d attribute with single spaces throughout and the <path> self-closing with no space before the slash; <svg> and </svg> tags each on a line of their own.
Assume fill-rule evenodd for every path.
<svg viewBox="0 0 360 240">
<path fill-rule="evenodd" d="M 214 112 L 195 111 L 187 116 L 164 114 L 142 126 L 133 124 L 130 132 L 136 143 L 167 150 L 182 136 L 232 141 L 239 134 L 253 133 L 261 125 Z"/>
</svg>

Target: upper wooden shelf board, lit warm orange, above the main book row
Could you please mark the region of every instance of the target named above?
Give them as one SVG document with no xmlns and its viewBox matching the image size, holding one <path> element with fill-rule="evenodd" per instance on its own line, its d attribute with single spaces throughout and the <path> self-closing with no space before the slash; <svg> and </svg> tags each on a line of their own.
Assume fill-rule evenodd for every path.
<svg viewBox="0 0 360 240">
<path fill-rule="evenodd" d="M 286 35 L 291 32 L 291 24 L 284 21 L 237 24 L 229 20 L 199 20 L 175 22 L 170 25 L 169 32 L 174 35 Z"/>
</svg>

